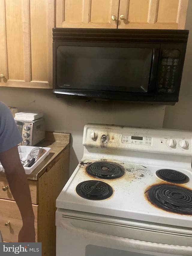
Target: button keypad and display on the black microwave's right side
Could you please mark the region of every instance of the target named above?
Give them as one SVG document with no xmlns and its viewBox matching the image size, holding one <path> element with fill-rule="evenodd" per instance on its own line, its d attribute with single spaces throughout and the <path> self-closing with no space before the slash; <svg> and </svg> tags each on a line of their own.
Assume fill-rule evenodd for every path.
<svg viewBox="0 0 192 256">
<path fill-rule="evenodd" d="M 179 65 L 180 51 L 176 49 L 164 49 L 161 55 L 161 66 L 158 77 L 158 92 L 175 92 L 175 83 Z"/>
</svg>

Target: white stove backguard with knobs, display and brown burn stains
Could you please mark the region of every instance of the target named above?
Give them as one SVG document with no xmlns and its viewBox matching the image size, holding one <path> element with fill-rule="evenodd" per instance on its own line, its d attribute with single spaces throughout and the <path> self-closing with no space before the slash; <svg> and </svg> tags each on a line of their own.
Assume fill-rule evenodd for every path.
<svg viewBox="0 0 192 256">
<path fill-rule="evenodd" d="M 102 152 L 104 149 L 107 149 L 106 152 L 123 149 L 192 157 L 192 131 L 87 124 L 83 132 L 83 145 L 91 147 L 89 152 L 99 152 L 101 148 Z"/>
</svg>

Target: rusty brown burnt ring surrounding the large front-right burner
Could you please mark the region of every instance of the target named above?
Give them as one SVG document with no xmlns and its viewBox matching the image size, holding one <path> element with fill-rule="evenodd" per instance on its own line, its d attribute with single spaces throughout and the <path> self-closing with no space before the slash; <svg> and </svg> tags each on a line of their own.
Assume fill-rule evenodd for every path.
<svg viewBox="0 0 192 256">
<path fill-rule="evenodd" d="M 159 183 L 155 183 L 153 185 L 149 185 L 147 188 L 146 188 L 146 191 L 144 191 L 144 196 L 146 198 L 146 200 L 152 205 L 152 206 L 155 206 L 156 208 L 162 210 L 162 211 L 166 211 L 166 212 L 169 212 L 169 213 L 172 213 L 172 214 L 178 214 L 178 215 L 186 215 L 186 216 L 191 216 L 192 213 L 182 213 L 182 212 L 173 212 L 171 211 L 170 209 L 167 209 L 167 208 L 162 208 L 161 206 L 158 206 L 150 197 L 149 197 L 149 191 L 150 189 L 153 189 L 155 188 L 156 186 L 159 186 L 159 185 L 169 185 L 169 186 L 178 186 L 178 187 L 182 187 L 182 188 L 187 188 L 184 184 L 175 184 L 175 183 L 171 183 L 171 182 L 159 182 Z M 189 189 L 191 192 L 192 190 L 190 188 L 187 188 Z"/>
</svg>

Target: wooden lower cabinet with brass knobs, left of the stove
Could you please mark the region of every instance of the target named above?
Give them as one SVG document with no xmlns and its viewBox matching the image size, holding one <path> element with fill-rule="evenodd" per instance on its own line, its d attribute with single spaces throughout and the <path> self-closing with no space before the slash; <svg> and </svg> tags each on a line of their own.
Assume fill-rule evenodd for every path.
<svg viewBox="0 0 192 256">
<path fill-rule="evenodd" d="M 36 242 L 42 243 L 42 255 L 46 256 L 56 254 L 55 202 L 69 177 L 69 148 L 58 158 L 37 181 L 29 180 L 35 214 Z M 7 179 L 0 177 L 0 230 L 4 241 L 17 242 L 22 218 L 6 186 L 8 187 Z"/>
</svg>

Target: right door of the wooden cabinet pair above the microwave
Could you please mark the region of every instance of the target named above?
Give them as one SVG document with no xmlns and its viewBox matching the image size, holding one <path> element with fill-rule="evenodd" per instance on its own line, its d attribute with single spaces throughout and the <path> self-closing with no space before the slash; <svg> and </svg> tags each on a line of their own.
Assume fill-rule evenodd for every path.
<svg viewBox="0 0 192 256">
<path fill-rule="evenodd" d="M 184 29 L 187 5 L 188 0 L 120 0 L 118 28 Z"/>
</svg>

